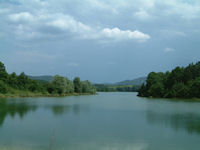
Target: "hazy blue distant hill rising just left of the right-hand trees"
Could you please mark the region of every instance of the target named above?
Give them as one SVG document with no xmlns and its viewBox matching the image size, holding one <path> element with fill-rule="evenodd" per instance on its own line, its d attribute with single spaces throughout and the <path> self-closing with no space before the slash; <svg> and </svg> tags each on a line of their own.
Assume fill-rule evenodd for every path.
<svg viewBox="0 0 200 150">
<path fill-rule="evenodd" d="M 146 82 L 147 77 L 140 77 L 134 80 L 125 80 L 121 82 L 114 83 L 114 85 L 138 85 L 141 86 L 143 83 Z"/>
</svg>

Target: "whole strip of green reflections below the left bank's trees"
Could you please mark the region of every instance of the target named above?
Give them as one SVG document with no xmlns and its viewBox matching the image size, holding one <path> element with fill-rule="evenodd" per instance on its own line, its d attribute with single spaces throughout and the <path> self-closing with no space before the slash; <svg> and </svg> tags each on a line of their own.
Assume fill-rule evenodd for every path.
<svg viewBox="0 0 200 150">
<path fill-rule="evenodd" d="M 88 112 L 89 107 L 87 105 L 79 105 L 79 104 L 59 104 L 59 103 L 49 103 L 40 101 L 30 102 L 29 99 L 1 99 L 0 100 L 0 126 L 4 123 L 6 117 L 11 116 L 14 118 L 15 116 L 19 116 L 21 120 L 23 120 L 24 116 L 30 112 L 36 111 L 37 109 L 47 109 L 51 110 L 55 116 L 61 116 L 68 113 L 73 113 L 78 115 L 80 111 Z"/>
</svg>

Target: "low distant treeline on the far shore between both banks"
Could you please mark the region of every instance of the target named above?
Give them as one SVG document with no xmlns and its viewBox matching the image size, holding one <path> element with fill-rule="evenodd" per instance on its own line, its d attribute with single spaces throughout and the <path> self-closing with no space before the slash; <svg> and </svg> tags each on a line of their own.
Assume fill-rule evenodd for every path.
<svg viewBox="0 0 200 150">
<path fill-rule="evenodd" d="M 95 84 L 98 92 L 137 92 L 139 86 Z"/>
</svg>

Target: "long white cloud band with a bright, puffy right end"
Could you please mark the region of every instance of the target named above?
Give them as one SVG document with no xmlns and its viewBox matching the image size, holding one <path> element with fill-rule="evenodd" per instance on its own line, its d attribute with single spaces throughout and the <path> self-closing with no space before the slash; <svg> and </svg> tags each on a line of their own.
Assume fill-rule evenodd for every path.
<svg viewBox="0 0 200 150">
<path fill-rule="evenodd" d="M 121 30 L 115 28 L 103 28 L 87 25 L 76 20 L 72 16 L 63 13 L 36 13 L 21 12 L 9 15 L 10 20 L 17 23 L 15 25 L 15 33 L 18 39 L 33 39 L 56 37 L 67 33 L 79 39 L 104 40 L 107 42 L 135 40 L 144 42 L 150 39 L 148 34 L 135 30 Z M 24 23 L 26 21 L 26 23 Z M 60 31 L 50 32 L 50 30 L 58 29 Z M 49 29 L 49 30 L 48 30 Z M 61 32 L 62 31 L 62 32 Z"/>
</svg>

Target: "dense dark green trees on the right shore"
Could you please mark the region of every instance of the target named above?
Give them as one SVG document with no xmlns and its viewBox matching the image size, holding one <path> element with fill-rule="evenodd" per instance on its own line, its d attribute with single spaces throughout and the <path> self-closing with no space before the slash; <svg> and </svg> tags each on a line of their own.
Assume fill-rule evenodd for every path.
<svg viewBox="0 0 200 150">
<path fill-rule="evenodd" d="M 176 67 L 171 72 L 148 75 L 138 93 L 143 97 L 200 98 L 200 62 Z"/>
</svg>

